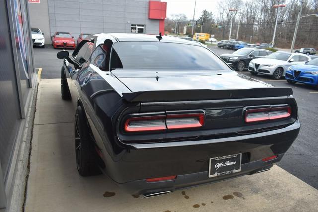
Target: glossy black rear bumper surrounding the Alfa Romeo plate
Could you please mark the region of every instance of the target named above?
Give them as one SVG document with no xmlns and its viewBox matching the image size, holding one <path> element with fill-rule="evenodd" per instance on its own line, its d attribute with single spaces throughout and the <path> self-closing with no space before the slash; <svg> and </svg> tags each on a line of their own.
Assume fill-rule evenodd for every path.
<svg viewBox="0 0 318 212">
<path fill-rule="evenodd" d="M 103 171 L 131 194 L 173 191 L 217 182 L 267 169 L 278 162 L 296 139 L 300 123 L 266 132 L 227 138 L 168 143 L 131 144 L 116 160 L 105 158 Z M 244 153 L 241 171 L 214 178 L 208 177 L 209 159 Z M 263 158 L 279 155 L 262 162 Z M 177 175 L 175 180 L 148 183 L 145 179 Z"/>
</svg>

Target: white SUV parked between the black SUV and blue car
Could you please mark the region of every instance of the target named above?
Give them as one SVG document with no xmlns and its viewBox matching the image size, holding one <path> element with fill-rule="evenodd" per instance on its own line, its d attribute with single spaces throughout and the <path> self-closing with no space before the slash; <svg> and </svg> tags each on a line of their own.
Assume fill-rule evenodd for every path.
<svg viewBox="0 0 318 212">
<path fill-rule="evenodd" d="M 253 59 L 249 62 L 248 71 L 251 74 L 258 73 L 271 75 L 273 79 L 285 76 L 288 67 L 295 64 L 305 64 L 310 57 L 300 53 L 274 52 L 264 58 Z"/>
</svg>

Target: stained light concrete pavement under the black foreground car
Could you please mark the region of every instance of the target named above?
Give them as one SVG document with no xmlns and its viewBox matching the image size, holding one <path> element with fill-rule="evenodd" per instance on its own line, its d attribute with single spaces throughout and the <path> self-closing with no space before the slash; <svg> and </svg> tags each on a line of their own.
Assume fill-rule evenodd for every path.
<svg viewBox="0 0 318 212">
<path fill-rule="evenodd" d="M 81 177 L 74 155 L 74 110 L 60 80 L 39 84 L 27 212 L 317 211 L 318 190 L 274 166 L 270 171 L 141 199 L 107 176 Z M 110 196 L 110 197 L 109 197 Z"/>
</svg>

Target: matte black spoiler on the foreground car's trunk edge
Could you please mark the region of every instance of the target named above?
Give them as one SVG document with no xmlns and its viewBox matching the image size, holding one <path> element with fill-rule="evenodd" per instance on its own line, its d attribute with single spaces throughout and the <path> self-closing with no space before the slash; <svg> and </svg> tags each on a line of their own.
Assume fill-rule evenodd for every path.
<svg viewBox="0 0 318 212">
<path fill-rule="evenodd" d="M 122 93 L 122 95 L 128 102 L 168 102 L 289 96 L 293 95 L 293 90 L 290 87 L 236 90 L 159 90 Z"/>
</svg>

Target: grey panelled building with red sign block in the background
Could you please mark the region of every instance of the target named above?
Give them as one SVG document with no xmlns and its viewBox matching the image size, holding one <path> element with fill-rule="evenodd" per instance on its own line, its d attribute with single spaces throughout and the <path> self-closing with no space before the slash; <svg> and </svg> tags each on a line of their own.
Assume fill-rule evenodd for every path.
<svg viewBox="0 0 318 212">
<path fill-rule="evenodd" d="M 28 0 L 30 21 L 50 44 L 56 31 L 80 33 L 164 32 L 166 2 L 160 0 Z"/>
</svg>

